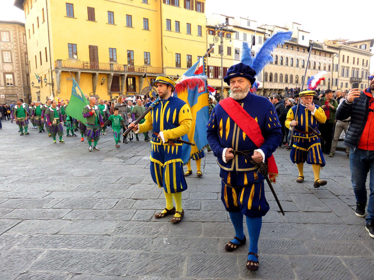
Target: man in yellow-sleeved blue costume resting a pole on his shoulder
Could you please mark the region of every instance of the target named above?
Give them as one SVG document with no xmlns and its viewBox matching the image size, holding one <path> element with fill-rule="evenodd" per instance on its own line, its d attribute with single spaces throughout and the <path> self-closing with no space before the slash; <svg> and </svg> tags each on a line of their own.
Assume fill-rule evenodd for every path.
<svg viewBox="0 0 374 280">
<path fill-rule="evenodd" d="M 154 183 L 163 187 L 166 207 L 154 216 L 161 218 L 175 213 L 171 222 L 179 223 L 184 216 L 182 192 L 187 189 L 181 159 L 182 144 L 168 141 L 182 139 L 190 131 L 192 116 L 186 102 L 172 93 L 175 90 L 174 80 L 168 76 L 158 76 L 153 85 L 157 87 L 159 102 L 145 116 L 143 124 L 129 124 L 129 127 L 134 127 L 135 133 L 155 131 L 151 137 L 150 171 Z"/>
</svg>

